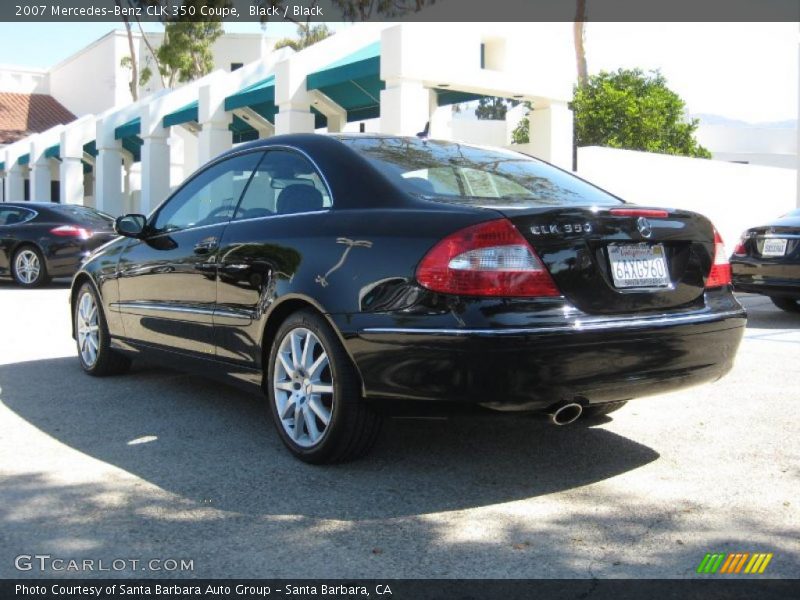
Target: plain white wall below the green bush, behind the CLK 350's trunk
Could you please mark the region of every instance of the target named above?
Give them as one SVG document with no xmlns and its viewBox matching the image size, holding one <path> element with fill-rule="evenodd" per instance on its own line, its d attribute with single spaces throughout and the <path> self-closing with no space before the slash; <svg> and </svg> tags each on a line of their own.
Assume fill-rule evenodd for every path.
<svg viewBox="0 0 800 600">
<path fill-rule="evenodd" d="M 796 173 L 776 167 L 587 147 L 577 174 L 630 202 L 706 215 L 729 251 L 742 231 L 795 207 Z"/>
</svg>

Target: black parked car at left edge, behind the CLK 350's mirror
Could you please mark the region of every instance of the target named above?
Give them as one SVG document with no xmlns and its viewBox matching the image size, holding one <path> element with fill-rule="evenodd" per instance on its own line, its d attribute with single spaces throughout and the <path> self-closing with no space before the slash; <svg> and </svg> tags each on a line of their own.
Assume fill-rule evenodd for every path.
<svg viewBox="0 0 800 600">
<path fill-rule="evenodd" d="M 71 277 L 92 250 L 116 237 L 114 219 L 51 202 L 0 204 L 0 275 L 24 287 Z"/>
</svg>

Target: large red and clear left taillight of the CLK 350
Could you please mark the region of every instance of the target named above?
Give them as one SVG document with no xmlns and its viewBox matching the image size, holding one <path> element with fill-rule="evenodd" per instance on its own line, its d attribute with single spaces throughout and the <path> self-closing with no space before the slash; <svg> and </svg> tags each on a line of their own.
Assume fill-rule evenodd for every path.
<svg viewBox="0 0 800 600">
<path fill-rule="evenodd" d="M 420 285 L 462 296 L 559 296 L 541 259 L 511 221 L 473 225 L 436 244 L 417 267 Z"/>
</svg>

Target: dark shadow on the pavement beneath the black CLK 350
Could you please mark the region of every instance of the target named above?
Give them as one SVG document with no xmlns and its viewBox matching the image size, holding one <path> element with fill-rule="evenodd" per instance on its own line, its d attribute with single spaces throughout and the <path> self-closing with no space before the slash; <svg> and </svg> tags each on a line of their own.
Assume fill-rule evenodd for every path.
<svg viewBox="0 0 800 600">
<path fill-rule="evenodd" d="M 365 459 L 314 467 L 283 448 L 262 399 L 181 373 L 138 366 L 94 379 L 75 358 L 59 358 L 0 366 L 0 388 L 0 401 L 59 442 L 186 500 L 250 515 L 348 521 L 459 510 L 584 486 L 658 458 L 604 429 L 490 416 L 392 421 Z"/>
</svg>

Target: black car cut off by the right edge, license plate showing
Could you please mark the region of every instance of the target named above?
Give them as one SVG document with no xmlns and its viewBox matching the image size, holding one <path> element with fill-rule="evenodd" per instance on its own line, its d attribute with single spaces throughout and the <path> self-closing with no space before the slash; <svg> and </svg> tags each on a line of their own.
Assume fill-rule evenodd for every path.
<svg viewBox="0 0 800 600">
<path fill-rule="evenodd" d="M 800 313 L 800 208 L 745 231 L 731 267 L 737 291 L 764 294 L 778 308 Z"/>
</svg>

